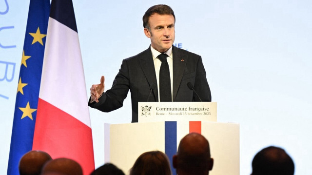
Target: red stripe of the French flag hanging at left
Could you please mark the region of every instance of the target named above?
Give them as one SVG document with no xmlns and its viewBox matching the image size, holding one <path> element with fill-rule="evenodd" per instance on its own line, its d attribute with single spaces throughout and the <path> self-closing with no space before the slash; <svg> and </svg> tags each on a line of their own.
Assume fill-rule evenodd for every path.
<svg viewBox="0 0 312 175">
<path fill-rule="evenodd" d="M 91 128 L 40 98 L 33 150 L 76 160 L 84 175 L 95 169 Z"/>
</svg>

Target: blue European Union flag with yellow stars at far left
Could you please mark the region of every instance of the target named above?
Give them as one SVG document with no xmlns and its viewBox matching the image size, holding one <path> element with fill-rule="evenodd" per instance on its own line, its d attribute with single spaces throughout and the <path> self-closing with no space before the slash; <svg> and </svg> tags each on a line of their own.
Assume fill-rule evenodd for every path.
<svg viewBox="0 0 312 175">
<path fill-rule="evenodd" d="M 20 158 L 33 147 L 49 13 L 50 0 L 30 0 L 15 102 L 8 175 L 20 175 Z"/>
</svg>

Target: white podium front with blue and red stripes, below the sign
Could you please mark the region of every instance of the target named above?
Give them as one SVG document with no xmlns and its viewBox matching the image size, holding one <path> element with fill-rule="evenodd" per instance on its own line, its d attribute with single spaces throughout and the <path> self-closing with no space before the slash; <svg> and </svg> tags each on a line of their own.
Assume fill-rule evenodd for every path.
<svg viewBox="0 0 312 175">
<path fill-rule="evenodd" d="M 181 138 L 198 132 L 210 143 L 214 167 L 210 175 L 239 175 L 239 124 L 210 121 L 161 121 L 105 124 L 105 162 L 129 173 L 139 155 L 162 151 L 172 162 Z M 175 175 L 175 169 L 172 170 Z"/>
</svg>

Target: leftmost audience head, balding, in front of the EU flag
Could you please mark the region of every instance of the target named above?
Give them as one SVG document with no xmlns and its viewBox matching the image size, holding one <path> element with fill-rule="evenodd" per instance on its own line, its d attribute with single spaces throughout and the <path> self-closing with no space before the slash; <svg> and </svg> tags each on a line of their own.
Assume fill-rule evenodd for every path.
<svg viewBox="0 0 312 175">
<path fill-rule="evenodd" d="M 30 151 L 20 158 L 20 175 L 40 175 L 43 165 L 52 160 L 51 156 L 43 151 Z"/>
</svg>

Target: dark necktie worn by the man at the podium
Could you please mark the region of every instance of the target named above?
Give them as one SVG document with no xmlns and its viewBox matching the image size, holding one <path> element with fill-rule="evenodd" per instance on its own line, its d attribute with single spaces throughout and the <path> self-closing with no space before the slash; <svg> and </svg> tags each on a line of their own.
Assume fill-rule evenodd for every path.
<svg viewBox="0 0 312 175">
<path fill-rule="evenodd" d="M 169 65 L 167 62 L 168 55 L 160 54 L 158 58 L 161 61 L 159 70 L 159 95 L 160 101 L 172 101 L 171 97 L 171 83 Z"/>
</svg>

